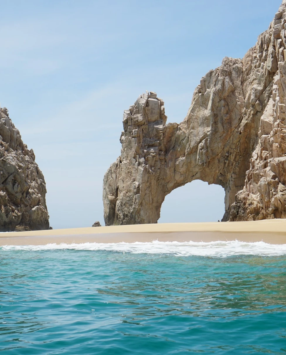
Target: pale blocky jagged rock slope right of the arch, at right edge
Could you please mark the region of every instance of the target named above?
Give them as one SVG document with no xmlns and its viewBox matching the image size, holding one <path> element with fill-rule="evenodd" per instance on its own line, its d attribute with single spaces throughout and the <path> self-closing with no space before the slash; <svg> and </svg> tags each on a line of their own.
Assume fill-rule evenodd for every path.
<svg viewBox="0 0 286 355">
<path fill-rule="evenodd" d="M 261 117 L 258 145 L 230 220 L 286 218 L 286 64 L 279 62 L 273 94 Z"/>
</svg>

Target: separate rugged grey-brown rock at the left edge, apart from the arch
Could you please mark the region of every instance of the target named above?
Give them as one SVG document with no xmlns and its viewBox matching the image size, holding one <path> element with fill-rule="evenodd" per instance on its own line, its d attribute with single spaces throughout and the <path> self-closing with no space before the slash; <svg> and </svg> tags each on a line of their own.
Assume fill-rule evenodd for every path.
<svg viewBox="0 0 286 355">
<path fill-rule="evenodd" d="M 44 176 L 0 108 L 0 231 L 49 229 Z"/>
</svg>

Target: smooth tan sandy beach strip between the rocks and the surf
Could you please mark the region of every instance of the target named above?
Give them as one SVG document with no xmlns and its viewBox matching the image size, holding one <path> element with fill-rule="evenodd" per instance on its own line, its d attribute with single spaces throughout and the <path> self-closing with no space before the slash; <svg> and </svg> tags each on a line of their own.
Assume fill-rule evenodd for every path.
<svg viewBox="0 0 286 355">
<path fill-rule="evenodd" d="M 251 222 L 158 223 L 0 233 L 1 245 L 159 241 L 264 241 L 286 244 L 286 219 Z"/>
</svg>

